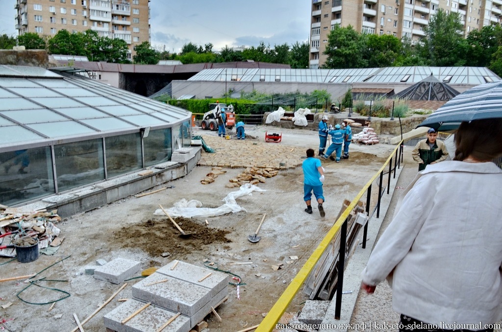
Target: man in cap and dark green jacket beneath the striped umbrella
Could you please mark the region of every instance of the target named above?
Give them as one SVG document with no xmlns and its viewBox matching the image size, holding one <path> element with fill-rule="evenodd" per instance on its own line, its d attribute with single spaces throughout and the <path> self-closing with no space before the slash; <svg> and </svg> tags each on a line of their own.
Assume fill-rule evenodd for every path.
<svg viewBox="0 0 502 332">
<path fill-rule="evenodd" d="M 430 128 L 427 130 L 427 138 L 419 141 L 411 152 L 413 159 L 418 162 L 419 172 L 425 170 L 427 165 L 446 160 L 448 157 L 446 145 L 437 140 L 437 136 L 437 131 Z"/>
</svg>

